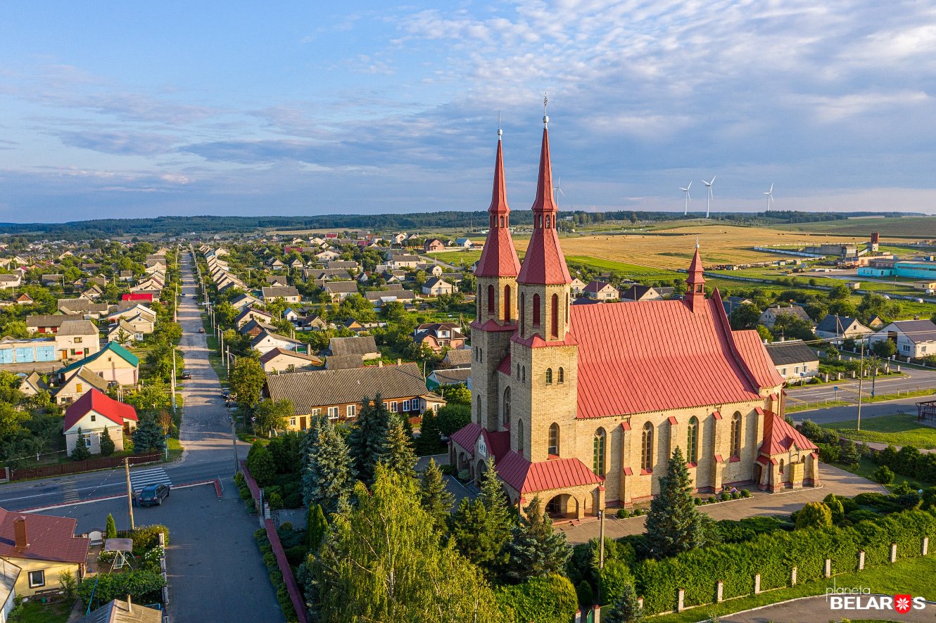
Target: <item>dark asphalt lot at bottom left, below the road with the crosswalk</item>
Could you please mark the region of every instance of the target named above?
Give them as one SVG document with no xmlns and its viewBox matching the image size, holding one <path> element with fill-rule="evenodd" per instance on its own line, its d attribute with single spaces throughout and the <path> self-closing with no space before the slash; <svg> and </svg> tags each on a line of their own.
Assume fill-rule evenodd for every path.
<svg viewBox="0 0 936 623">
<path fill-rule="evenodd" d="M 108 514 L 129 529 L 126 498 L 41 511 L 78 519 L 78 531 L 103 530 Z M 218 499 L 213 485 L 173 489 L 161 506 L 134 508 L 138 526 L 169 529 L 169 608 L 174 623 L 205 620 L 283 621 L 262 559 L 256 554 L 256 514 L 247 514 L 233 481 Z M 250 589 L 245 589 L 250 587 Z"/>
</svg>

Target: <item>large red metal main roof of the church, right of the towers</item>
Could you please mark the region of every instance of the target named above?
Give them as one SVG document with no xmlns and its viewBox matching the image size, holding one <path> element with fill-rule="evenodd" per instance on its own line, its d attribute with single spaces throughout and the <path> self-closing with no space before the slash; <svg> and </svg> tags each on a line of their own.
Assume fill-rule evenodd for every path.
<svg viewBox="0 0 936 623">
<path fill-rule="evenodd" d="M 735 344 L 721 300 L 703 302 L 695 312 L 680 300 L 572 306 L 577 416 L 756 400 L 760 387 L 782 384 L 759 340 L 741 331 Z"/>
</svg>

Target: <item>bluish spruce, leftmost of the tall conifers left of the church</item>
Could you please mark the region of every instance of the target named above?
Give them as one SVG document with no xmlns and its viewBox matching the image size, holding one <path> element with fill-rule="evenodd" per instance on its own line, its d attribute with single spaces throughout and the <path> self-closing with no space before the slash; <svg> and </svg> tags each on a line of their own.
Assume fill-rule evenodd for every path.
<svg viewBox="0 0 936 623">
<path fill-rule="evenodd" d="M 354 468 L 344 438 L 328 421 L 320 422 L 314 441 L 309 442 L 302 474 L 302 500 L 321 504 L 330 514 L 354 486 Z"/>
</svg>

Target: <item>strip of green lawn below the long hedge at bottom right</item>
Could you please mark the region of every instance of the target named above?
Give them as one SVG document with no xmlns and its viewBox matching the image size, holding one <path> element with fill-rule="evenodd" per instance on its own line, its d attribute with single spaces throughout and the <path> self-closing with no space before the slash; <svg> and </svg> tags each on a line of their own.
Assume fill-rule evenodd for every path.
<svg viewBox="0 0 936 623">
<path fill-rule="evenodd" d="M 936 557 L 909 558 L 892 565 L 880 565 L 863 572 L 844 573 L 834 576 L 839 587 L 870 587 L 876 593 L 885 595 L 906 594 L 921 595 L 931 600 L 936 597 L 933 574 L 936 573 Z M 653 616 L 654 623 L 692 623 L 708 616 L 727 616 L 731 613 L 750 610 L 771 603 L 792 600 L 797 597 L 823 595 L 826 587 L 832 586 L 832 578 L 806 582 L 792 588 L 771 590 L 760 595 L 737 600 L 723 601 L 719 604 L 699 606 L 678 615 Z M 841 618 L 841 617 L 840 617 Z M 829 619 L 836 619 L 830 612 Z M 859 619 L 856 619 L 859 620 Z M 870 621 L 874 619 L 863 619 Z"/>
</svg>

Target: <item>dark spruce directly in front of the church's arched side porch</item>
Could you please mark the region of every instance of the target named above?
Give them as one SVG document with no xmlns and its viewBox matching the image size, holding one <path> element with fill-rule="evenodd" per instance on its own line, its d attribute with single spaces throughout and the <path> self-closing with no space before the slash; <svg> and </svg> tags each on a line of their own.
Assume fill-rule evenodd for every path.
<svg viewBox="0 0 936 623">
<path fill-rule="evenodd" d="M 562 573 L 572 548 L 565 543 L 565 534 L 552 529 L 552 520 L 536 497 L 524 509 L 519 525 L 513 529 L 507 553 L 510 566 L 506 577 L 522 582 L 548 573 Z"/>
</svg>

